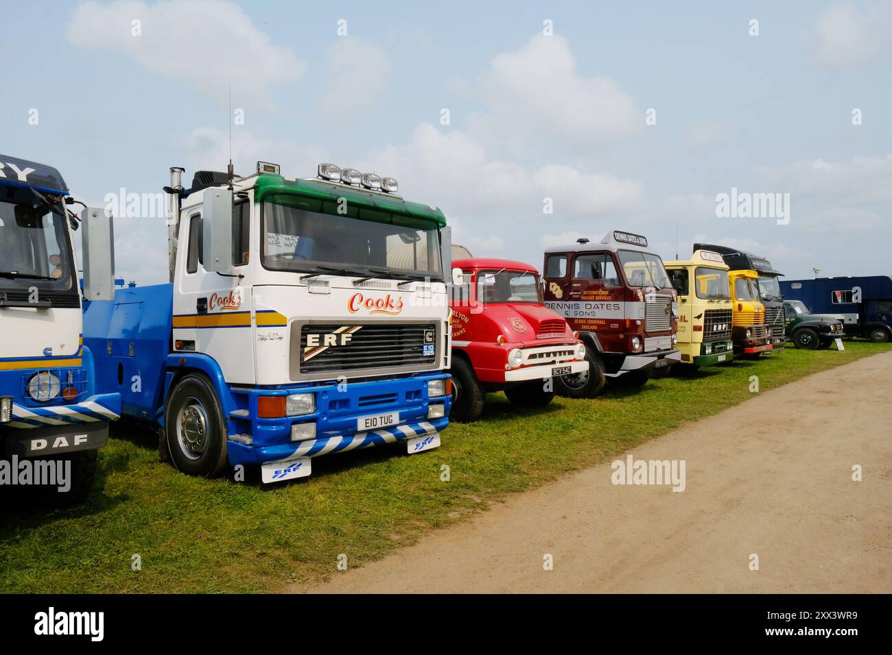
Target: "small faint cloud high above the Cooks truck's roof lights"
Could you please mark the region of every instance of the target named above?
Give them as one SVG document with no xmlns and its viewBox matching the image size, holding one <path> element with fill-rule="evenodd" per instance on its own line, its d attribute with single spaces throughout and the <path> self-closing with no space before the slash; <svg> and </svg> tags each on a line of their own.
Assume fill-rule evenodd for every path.
<svg viewBox="0 0 892 655">
<path fill-rule="evenodd" d="M 319 93 L 319 106 L 328 119 L 355 114 L 357 105 L 367 105 L 390 77 L 390 59 L 373 43 L 359 37 L 339 37 L 326 51 L 326 88 Z"/>
</svg>

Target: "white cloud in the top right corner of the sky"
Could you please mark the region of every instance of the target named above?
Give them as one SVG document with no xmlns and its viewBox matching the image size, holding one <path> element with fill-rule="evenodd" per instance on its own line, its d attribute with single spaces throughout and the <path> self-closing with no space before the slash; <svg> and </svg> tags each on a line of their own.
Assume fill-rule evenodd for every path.
<svg viewBox="0 0 892 655">
<path fill-rule="evenodd" d="M 892 2 L 883 0 L 859 12 L 852 4 L 833 4 L 818 17 L 814 61 L 828 69 L 843 69 L 880 61 L 890 52 Z"/>
</svg>

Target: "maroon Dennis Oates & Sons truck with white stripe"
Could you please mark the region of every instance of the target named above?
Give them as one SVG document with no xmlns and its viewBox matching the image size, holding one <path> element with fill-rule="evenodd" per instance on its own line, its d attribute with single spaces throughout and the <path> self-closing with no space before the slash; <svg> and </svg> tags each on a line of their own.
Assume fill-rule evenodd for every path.
<svg viewBox="0 0 892 655">
<path fill-rule="evenodd" d="M 546 250 L 545 305 L 579 333 L 589 362 L 556 380 L 562 395 L 597 396 L 608 377 L 641 385 L 681 361 L 678 297 L 643 236 L 613 230 Z"/>
</svg>

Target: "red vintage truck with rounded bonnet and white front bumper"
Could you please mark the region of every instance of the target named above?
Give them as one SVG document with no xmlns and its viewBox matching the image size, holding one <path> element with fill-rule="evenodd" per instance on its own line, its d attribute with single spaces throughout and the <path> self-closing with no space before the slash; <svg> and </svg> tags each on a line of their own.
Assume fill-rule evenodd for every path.
<svg viewBox="0 0 892 655">
<path fill-rule="evenodd" d="M 589 368 L 582 342 L 543 305 L 533 266 L 491 258 L 455 259 L 452 266 L 463 283 L 451 300 L 451 419 L 474 421 L 493 391 L 504 391 L 513 405 L 548 405 L 554 378 Z"/>
</svg>

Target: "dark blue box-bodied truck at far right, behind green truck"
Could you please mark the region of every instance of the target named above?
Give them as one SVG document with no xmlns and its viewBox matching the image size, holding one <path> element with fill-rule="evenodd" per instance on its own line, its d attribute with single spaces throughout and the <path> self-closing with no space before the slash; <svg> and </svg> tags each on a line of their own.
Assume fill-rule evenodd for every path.
<svg viewBox="0 0 892 655">
<path fill-rule="evenodd" d="M 780 289 L 785 299 L 801 300 L 812 313 L 840 319 L 849 337 L 892 341 L 892 278 L 888 275 L 785 280 Z"/>
</svg>

